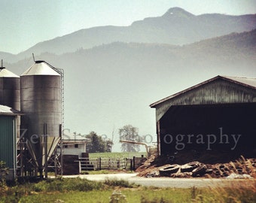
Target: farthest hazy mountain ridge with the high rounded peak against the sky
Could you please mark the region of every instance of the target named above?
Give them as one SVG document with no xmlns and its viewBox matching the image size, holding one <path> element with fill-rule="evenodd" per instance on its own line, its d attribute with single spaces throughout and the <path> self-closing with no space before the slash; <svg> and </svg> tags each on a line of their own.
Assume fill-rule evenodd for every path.
<svg viewBox="0 0 256 203">
<path fill-rule="evenodd" d="M 206 38 L 244 32 L 256 29 L 256 15 L 228 16 L 224 14 L 202 14 L 196 16 L 182 8 L 170 8 L 161 17 L 147 17 L 131 26 L 100 26 L 81 29 L 69 35 L 42 41 L 16 56 L 8 57 L 8 62 L 30 57 L 31 53 L 55 54 L 75 52 L 81 48 L 90 49 L 114 41 L 190 44 Z"/>
</svg>

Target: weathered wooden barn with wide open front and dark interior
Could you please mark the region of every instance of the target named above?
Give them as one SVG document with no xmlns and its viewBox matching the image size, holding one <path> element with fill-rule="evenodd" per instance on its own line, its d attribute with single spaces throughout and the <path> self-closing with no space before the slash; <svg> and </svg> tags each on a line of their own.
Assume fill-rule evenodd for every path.
<svg viewBox="0 0 256 203">
<path fill-rule="evenodd" d="M 213 77 L 150 106 L 161 156 L 180 163 L 256 157 L 256 78 Z"/>
</svg>

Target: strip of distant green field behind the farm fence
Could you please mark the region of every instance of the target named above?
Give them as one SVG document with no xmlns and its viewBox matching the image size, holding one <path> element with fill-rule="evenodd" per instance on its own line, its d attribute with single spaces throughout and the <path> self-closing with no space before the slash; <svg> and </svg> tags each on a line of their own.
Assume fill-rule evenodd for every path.
<svg viewBox="0 0 256 203">
<path fill-rule="evenodd" d="M 140 156 L 147 157 L 147 153 L 142 152 L 123 152 L 123 153 L 89 153 L 89 158 L 133 158 L 133 156 L 140 157 Z"/>
</svg>

